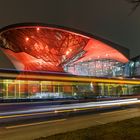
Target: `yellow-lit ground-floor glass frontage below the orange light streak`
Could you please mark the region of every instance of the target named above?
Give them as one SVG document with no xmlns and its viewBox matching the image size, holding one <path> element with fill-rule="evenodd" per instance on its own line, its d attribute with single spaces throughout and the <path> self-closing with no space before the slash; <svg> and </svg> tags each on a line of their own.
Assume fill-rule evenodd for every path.
<svg viewBox="0 0 140 140">
<path fill-rule="evenodd" d="M 138 84 L 0 80 L 1 99 L 98 99 L 132 97 L 139 93 Z"/>
</svg>

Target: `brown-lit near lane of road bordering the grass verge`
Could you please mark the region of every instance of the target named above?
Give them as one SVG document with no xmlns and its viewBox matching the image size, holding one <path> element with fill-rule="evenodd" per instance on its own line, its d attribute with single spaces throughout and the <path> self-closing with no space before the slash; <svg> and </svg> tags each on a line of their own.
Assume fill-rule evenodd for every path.
<svg viewBox="0 0 140 140">
<path fill-rule="evenodd" d="M 51 121 L 5 126 L 0 128 L 0 140 L 33 140 L 42 136 L 50 136 L 57 133 L 73 131 L 137 116 L 140 116 L 139 107 L 55 119 Z"/>
</svg>

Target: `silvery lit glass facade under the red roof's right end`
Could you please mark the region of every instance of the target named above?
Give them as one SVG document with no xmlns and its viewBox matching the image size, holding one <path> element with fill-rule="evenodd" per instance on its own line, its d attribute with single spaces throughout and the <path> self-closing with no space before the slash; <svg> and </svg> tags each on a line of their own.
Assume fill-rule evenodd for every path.
<svg viewBox="0 0 140 140">
<path fill-rule="evenodd" d="M 65 71 L 75 75 L 118 77 L 124 75 L 124 64 L 111 59 L 97 59 L 68 64 Z"/>
</svg>

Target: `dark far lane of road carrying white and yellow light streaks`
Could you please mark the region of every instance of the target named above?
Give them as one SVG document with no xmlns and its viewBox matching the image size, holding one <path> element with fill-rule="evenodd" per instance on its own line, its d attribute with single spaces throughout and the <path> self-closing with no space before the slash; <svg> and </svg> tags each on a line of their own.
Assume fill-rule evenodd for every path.
<svg viewBox="0 0 140 140">
<path fill-rule="evenodd" d="M 25 123 L 35 123 L 39 121 L 50 121 L 84 114 L 96 114 L 99 112 L 121 109 L 124 105 L 132 107 L 132 103 L 140 104 L 136 98 L 86 102 L 63 105 L 39 104 L 6 104 L 0 105 L 0 126 L 10 126 Z M 123 105 L 123 106 L 122 106 Z"/>
</svg>

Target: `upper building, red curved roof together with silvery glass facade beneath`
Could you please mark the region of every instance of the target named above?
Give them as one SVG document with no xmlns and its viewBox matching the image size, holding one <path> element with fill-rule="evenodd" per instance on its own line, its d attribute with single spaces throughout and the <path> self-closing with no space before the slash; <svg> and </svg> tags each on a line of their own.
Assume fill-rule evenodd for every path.
<svg viewBox="0 0 140 140">
<path fill-rule="evenodd" d="M 14 25 L 0 31 L 0 52 L 11 61 L 7 67 L 19 71 L 123 76 L 128 50 L 97 38 L 62 27 Z"/>
</svg>

